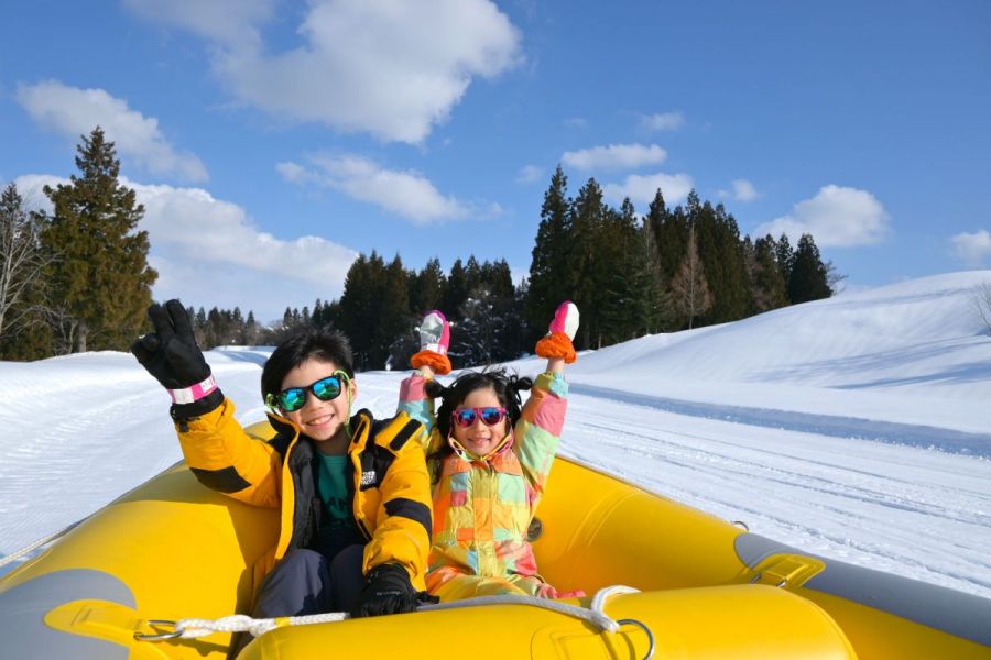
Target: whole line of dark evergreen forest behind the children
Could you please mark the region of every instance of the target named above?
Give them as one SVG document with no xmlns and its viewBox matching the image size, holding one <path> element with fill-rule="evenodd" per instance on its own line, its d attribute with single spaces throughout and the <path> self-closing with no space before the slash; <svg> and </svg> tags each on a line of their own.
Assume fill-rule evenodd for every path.
<svg viewBox="0 0 991 660">
<path fill-rule="evenodd" d="M 86 350 L 127 350 L 148 329 L 144 311 L 157 274 L 148 265 L 144 209 L 118 180 L 112 142 L 97 128 L 77 147 L 79 175 L 45 188 L 51 213 L 26 211 L 15 186 L 0 198 L 0 359 L 35 360 Z M 541 207 L 530 275 L 514 284 L 505 260 L 437 258 L 407 268 L 377 252 L 351 265 L 339 299 L 286 308 L 280 323 L 214 307 L 189 308 L 197 340 L 265 345 L 307 326 L 348 336 L 356 367 L 405 369 L 418 349 L 417 323 L 431 309 L 451 321 L 458 366 L 519 358 L 532 350 L 557 304 L 581 310 L 579 350 L 656 332 L 739 320 L 827 298 L 842 279 L 812 235 L 741 237 L 721 204 L 695 191 L 673 209 L 657 190 L 646 215 L 629 199 L 613 208 L 596 179 L 574 197 L 560 167 Z"/>
</svg>

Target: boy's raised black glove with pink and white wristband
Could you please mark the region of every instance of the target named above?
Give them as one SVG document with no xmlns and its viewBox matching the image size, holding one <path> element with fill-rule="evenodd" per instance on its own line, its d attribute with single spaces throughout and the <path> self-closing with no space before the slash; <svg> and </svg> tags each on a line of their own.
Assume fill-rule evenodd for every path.
<svg viewBox="0 0 991 660">
<path fill-rule="evenodd" d="M 184 421 L 215 409 L 224 395 L 210 378 L 210 366 L 196 345 L 193 324 L 178 300 L 152 305 L 148 318 L 154 327 L 131 344 L 138 362 L 173 398 L 172 417 Z"/>
</svg>

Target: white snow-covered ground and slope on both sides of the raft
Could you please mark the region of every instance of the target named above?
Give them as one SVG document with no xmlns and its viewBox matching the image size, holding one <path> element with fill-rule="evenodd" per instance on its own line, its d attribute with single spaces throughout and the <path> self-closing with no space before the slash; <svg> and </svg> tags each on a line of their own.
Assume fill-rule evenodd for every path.
<svg viewBox="0 0 991 660">
<path fill-rule="evenodd" d="M 562 453 L 786 543 L 991 597 L 991 337 L 970 308 L 982 280 L 928 277 L 585 353 Z M 207 355 L 243 421 L 263 415 L 266 354 Z M 402 376 L 361 374 L 358 405 L 391 414 Z M 181 458 L 167 396 L 128 354 L 0 363 L 0 552 Z"/>
</svg>

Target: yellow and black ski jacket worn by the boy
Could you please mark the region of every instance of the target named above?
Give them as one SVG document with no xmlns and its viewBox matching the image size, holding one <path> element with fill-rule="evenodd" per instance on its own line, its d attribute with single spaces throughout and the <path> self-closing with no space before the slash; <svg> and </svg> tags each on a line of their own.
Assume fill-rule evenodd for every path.
<svg viewBox="0 0 991 660">
<path fill-rule="evenodd" d="M 252 438 L 235 419 L 230 399 L 202 417 L 176 424 L 193 474 L 235 499 L 281 508 L 275 561 L 316 538 L 320 502 L 313 469 L 316 449 L 292 421 L 269 415 L 275 436 Z M 405 414 L 377 421 L 368 410 L 351 418 L 349 497 L 366 538 L 363 571 L 382 563 L 406 569 L 424 590 L 431 548 L 431 480 L 421 422 Z"/>
</svg>

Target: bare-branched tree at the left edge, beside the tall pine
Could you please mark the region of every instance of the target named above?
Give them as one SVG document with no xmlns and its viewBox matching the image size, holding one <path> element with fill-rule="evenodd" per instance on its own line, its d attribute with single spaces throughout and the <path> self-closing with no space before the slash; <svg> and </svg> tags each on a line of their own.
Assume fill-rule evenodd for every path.
<svg viewBox="0 0 991 660">
<path fill-rule="evenodd" d="M 28 304 L 37 290 L 50 257 L 39 240 L 39 223 L 24 210 L 17 186 L 10 184 L 0 196 L 0 337 L 17 334 L 35 316 Z"/>
</svg>

